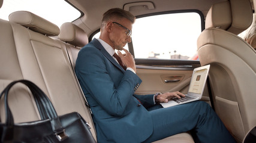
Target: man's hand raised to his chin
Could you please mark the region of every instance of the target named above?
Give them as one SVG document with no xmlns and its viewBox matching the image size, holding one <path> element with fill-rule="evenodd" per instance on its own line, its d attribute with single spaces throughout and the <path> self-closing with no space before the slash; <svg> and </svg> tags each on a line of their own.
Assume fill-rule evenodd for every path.
<svg viewBox="0 0 256 143">
<path fill-rule="evenodd" d="M 130 67 L 136 72 L 136 66 L 135 66 L 135 61 L 134 57 L 131 55 L 131 53 L 127 49 L 123 49 L 126 54 L 122 54 L 120 51 L 118 51 L 118 55 L 122 60 L 122 63 L 124 64 L 125 67 Z"/>
</svg>

